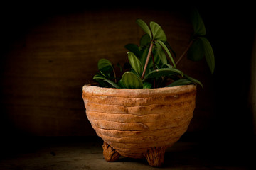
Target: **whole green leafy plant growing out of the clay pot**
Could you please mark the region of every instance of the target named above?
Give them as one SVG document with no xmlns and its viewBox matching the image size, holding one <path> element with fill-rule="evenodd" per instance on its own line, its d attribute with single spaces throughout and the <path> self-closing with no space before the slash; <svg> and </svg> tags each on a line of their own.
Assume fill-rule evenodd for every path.
<svg viewBox="0 0 256 170">
<path fill-rule="evenodd" d="M 183 52 L 181 57 L 174 62 L 171 54 L 176 56 L 174 50 L 167 42 L 166 34 L 159 24 L 151 21 L 149 26 L 138 19 L 136 23 L 146 33 L 142 36 L 139 46 L 128 44 L 124 47 L 129 50 L 128 68 L 122 74 L 122 77 L 117 77 L 112 63 L 107 59 L 101 59 L 98 62 L 99 74 L 96 74 L 95 79 L 100 86 L 127 88 L 127 89 L 142 89 L 142 88 L 157 88 L 164 86 L 180 86 L 187 84 L 199 84 L 203 87 L 200 81 L 189 77 L 188 75 L 177 69 L 178 63 L 186 56 L 189 60 L 198 61 L 206 57 L 206 62 L 213 73 L 215 60 L 210 42 L 204 37 L 206 29 L 198 11 L 194 10 L 191 21 L 193 23 L 194 33 L 191 36 L 191 41 L 188 47 Z M 121 71 L 124 70 L 117 65 Z"/>
</svg>

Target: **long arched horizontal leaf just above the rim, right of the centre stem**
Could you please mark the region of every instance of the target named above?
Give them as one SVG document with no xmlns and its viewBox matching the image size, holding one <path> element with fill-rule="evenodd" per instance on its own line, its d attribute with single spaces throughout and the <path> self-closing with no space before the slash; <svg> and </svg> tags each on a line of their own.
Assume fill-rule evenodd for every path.
<svg viewBox="0 0 256 170">
<path fill-rule="evenodd" d="M 176 74 L 176 73 L 181 74 L 181 76 L 183 77 L 183 72 L 181 72 L 178 69 L 164 68 L 164 69 L 155 69 L 155 70 L 149 72 L 149 74 L 146 74 L 144 79 L 162 77 L 162 76 L 169 76 L 171 74 Z"/>
</svg>

